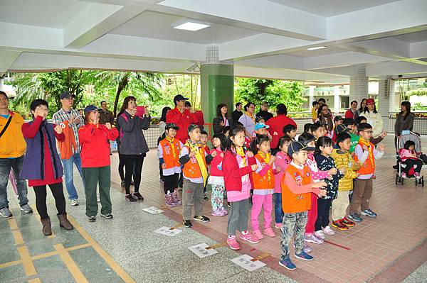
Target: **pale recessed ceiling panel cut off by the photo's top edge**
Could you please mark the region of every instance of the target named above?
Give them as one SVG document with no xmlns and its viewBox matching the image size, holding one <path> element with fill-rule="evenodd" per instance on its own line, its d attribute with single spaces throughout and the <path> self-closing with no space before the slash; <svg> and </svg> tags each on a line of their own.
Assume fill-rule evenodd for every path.
<svg viewBox="0 0 427 283">
<path fill-rule="evenodd" d="M 330 17 L 398 0 L 268 0 L 298 10 Z"/>
</svg>

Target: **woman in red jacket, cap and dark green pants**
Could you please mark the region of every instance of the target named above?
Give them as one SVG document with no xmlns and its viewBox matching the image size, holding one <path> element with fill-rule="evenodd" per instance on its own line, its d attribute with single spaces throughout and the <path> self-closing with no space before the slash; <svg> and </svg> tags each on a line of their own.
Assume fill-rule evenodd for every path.
<svg viewBox="0 0 427 283">
<path fill-rule="evenodd" d="M 116 128 L 112 128 L 110 123 L 102 125 L 100 113 L 96 106 L 85 107 L 85 126 L 78 129 L 78 138 L 82 150 L 82 171 L 85 179 L 86 196 L 86 216 L 89 222 L 96 221 L 97 184 L 100 184 L 101 216 L 110 219 L 111 199 L 110 199 L 110 143 L 115 140 L 119 133 Z"/>
</svg>

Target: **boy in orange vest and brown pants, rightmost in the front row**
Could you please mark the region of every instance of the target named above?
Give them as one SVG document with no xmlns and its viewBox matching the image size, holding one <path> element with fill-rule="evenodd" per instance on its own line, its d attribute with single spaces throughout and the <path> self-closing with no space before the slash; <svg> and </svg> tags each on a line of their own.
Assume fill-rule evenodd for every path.
<svg viewBox="0 0 427 283">
<path fill-rule="evenodd" d="M 372 177 L 375 174 L 375 160 L 380 159 L 384 154 L 384 145 L 378 145 L 375 149 L 375 145 L 369 141 L 372 137 L 372 126 L 369 123 L 359 123 L 357 126 L 360 138 L 356 148 L 354 148 L 354 160 L 359 161 L 362 166 L 357 173 L 357 177 L 354 182 L 352 203 L 349 209 L 349 218 L 352 221 L 362 222 L 363 219 L 360 217 L 358 211 L 361 209 L 361 214 L 369 216 L 371 218 L 376 217 L 376 213 L 369 209 L 369 199 L 372 194 Z"/>
</svg>

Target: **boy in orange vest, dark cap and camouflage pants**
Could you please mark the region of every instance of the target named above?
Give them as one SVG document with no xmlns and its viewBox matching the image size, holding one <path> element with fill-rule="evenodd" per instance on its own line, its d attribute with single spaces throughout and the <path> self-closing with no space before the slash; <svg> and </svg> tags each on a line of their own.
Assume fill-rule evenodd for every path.
<svg viewBox="0 0 427 283">
<path fill-rule="evenodd" d="M 290 239 L 295 233 L 295 257 L 301 260 L 313 260 L 311 255 L 304 252 L 304 232 L 307 224 L 307 211 L 311 207 L 311 193 L 318 197 L 326 195 L 326 182 L 313 182 L 310 169 L 305 166 L 307 161 L 307 151 L 315 148 L 307 147 L 300 142 L 294 141 L 289 145 L 288 154 L 292 157 L 292 162 L 283 175 L 282 187 L 282 208 L 284 212 L 282 224 L 282 255 L 279 265 L 288 270 L 295 270 L 297 267 L 290 260 L 289 245 Z"/>
</svg>

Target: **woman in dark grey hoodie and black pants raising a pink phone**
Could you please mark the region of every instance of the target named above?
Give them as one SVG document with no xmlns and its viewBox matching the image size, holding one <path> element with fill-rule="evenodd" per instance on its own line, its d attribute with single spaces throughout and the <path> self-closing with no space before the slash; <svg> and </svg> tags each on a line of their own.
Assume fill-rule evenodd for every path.
<svg viewBox="0 0 427 283">
<path fill-rule="evenodd" d="M 123 101 L 122 109 L 125 111 L 119 116 L 117 122 L 120 126 L 120 154 L 125 162 L 125 190 L 127 201 L 143 201 L 144 198 L 139 193 L 141 183 L 142 164 L 148 152 L 147 141 L 141 130 L 147 130 L 151 121 L 151 116 L 147 107 L 143 116 L 137 114 L 137 99 L 134 96 L 127 96 Z M 132 174 L 135 182 L 134 194 L 130 194 L 130 180 Z"/>
</svg>

